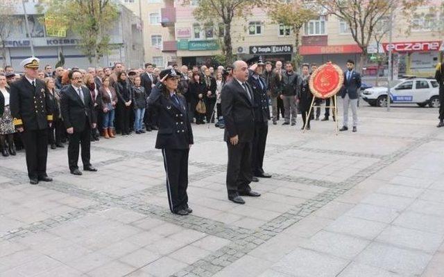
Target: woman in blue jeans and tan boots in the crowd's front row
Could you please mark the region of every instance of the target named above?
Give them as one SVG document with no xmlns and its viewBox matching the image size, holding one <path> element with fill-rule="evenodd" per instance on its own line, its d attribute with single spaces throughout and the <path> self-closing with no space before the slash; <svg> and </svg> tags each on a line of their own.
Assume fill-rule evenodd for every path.
<svg viewBox="0 0 444 277">
<path fill-rule="evenodd" d="M 105 139 L 114 138 L 114 113 L 119 100 L 114 88 L 110 87 L 109 76 L 103 78 L 99 93 L 102 98 L 103 136 Z"/>
</svg>

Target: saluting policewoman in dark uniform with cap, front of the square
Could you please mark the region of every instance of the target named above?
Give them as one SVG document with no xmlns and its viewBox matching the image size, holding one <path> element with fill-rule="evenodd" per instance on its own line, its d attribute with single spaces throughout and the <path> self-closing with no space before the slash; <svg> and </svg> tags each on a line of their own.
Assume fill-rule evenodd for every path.
<svg viewBox="0 0 444 277">
<path fill-rule="evenodd" d="M 172 213 L 188 215 L 188 154 L 193 132 L 185 96 L 178 93 L 180 73 L 174 69 L 160 72 L 161 82 L 151 91 L 148 106 L 158 115 L 155 148 L 162 149 L 167 173 L 167 193 Z"/>
</svg>

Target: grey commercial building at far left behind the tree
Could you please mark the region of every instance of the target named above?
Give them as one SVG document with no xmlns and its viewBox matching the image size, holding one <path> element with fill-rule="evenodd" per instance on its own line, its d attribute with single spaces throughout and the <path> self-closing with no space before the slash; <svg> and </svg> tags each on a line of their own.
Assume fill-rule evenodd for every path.
<svg viewBox="0 0 444 277">
<path fill-rule="evenodd" d="M 6 61 L 17 71 L 20 62 L 31 56 L 31 43 L 35 56 L 41 64 L 54 66 L 60 60 L 60 53 L 65 58 L 65 67 L 91 66 L 87 57 L 80 51 L 80 40 L 67 30 L 66 37 L 51 37 L 43 24 L 44 15 L 37 10 L 38 1 L 25 3 L 28 15 L 31 39 L 29 38 L 24 17 L 24 9 L 20 1 L 15 6 L 16 23 L 11 26 L 12 32 L 6 39 Z M 101 58 L 100 66 L 112 66 L 115 62 L 123 62 L 127 67 L 139 67 L 142 60 L 142 31 L 137 29 L 137 19 L 133 12 L 119 5 L 119 18 L 110 31 L 110 52 Z"/>
</svg>

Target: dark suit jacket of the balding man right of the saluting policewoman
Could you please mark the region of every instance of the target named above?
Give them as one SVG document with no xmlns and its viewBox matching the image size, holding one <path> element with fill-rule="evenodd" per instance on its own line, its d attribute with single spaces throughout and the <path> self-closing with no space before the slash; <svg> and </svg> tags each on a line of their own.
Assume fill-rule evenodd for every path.
<svg viewBox="0 0 444 277">
<path fill-rule="evenodd" d="M 246 82 L 253 93 L 250 84 Z M 254 96 L 253 96 L 254 97 Z M 254 98 L 253 98 L 254 102 Z M 229 142 L 233 136 L 239 136 L 239 143 L 253 141 L 255 116 L 253 102 L 236 79 L 225 85 L 221 91 L 221 109 L 225 121 L 224 140 Z"/>
</svg>

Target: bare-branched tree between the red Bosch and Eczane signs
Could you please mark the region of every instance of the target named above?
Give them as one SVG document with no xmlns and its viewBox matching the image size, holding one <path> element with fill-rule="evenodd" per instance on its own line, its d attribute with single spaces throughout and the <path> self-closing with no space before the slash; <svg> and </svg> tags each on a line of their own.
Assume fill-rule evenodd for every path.
<svg viewBox="0 0 444 277">
<path fill-rule="evenodd" d="M 368 44 L 379 20 L 389 15 L 392 8 L 409 15 L 426 2 L 427 0 L 316 0 L 328 14 L 335 15 L 350 27 L 353 39 L 362 50 L 359 62 L 361 69 L 367 60 Z"/>
</svg>

